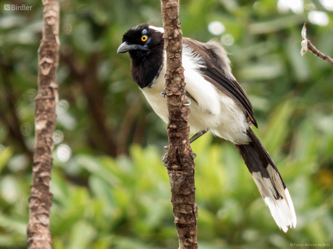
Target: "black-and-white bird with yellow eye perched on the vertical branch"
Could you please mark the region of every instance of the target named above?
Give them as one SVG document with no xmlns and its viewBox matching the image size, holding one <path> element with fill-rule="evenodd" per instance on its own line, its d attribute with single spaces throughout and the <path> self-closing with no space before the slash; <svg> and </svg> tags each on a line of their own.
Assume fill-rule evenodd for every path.
<svg viewBox="0 0 333 249">
<path fill-rule="evenodd" d="M 164 29 L 141 24 L 129 29 L 117 53 L 128 52 L 131 74 L 155 113 L 168 123 L 165 98 Z M 231 72 L 226 50 L 217 41 L 182 38 L 182 66 L 193 142 L 206 132 L 235 144 L 280 229 L 296 227 L 295 209 L 271 156 L 251 127 L 258 128 L 252 105 Z"/>
</svg>

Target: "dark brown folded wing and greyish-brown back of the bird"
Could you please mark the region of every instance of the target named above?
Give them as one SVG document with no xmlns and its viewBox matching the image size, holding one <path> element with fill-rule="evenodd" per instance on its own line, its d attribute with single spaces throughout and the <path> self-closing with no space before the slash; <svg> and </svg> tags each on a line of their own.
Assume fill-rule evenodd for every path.
<svg viewBox="0 0 333 249">
<path fill-rule="evenodd" d="M 232 98 L 246 113 L 248 121 L 255 127 L 258 124 L 254 118 L 252 105 L 239 83 L 231 75 L 231 71 L 226 73 L 227 68 L 230 70 L 229 59 L 223 48 L 216 42 L 202 43 L 190 38 L 183 37 L 183 43 L 190 47 L 194 53 L 204 59 L 204 68 L 201 69 L 205 80 L 213 84 L 218 90 Z M 224 52 L 224 53 L 223 53 Z"/>
</svg>

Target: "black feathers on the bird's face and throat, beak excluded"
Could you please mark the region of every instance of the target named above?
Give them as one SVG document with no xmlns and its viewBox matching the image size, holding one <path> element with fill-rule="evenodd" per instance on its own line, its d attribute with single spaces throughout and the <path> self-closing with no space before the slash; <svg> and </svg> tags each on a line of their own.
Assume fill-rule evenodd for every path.
<svg viewBox="0 0 333 249">
<path fill-rule="evenodd" d="M 143 36 L 147 36 L 146 40 L 142 39 Z M 128 30 L 123 42 L 139 45 L 129 51 L 132 77 L 140 88 L 151 86 L 163 64 L 163 33 L 148 24 L 141 24 Z"/>
</svg>

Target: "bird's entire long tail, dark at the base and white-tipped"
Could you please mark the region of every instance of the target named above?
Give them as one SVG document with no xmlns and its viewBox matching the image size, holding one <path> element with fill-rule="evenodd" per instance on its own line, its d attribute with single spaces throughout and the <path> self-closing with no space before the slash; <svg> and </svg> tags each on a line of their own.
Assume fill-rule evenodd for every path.
<svg viewBox="0 0 333 249">
<path fill-rule="evenodd" d="M 239 154 L 250 171 L 259 192 L 276 224 L 284 232 L 296 226 L 296 214 L 289 192 L 272 158 L 251 129 L 248 144 L 236 144 Z"/>
</svg>

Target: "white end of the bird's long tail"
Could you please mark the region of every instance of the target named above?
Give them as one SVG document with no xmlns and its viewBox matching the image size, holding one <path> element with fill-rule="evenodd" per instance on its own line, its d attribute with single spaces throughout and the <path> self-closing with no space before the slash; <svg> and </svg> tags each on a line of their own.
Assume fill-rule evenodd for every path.
<svg viewBox="0 0 333 249">
<path fill-rule="evenodd" d="M 287 232 L 288 226 L 290 228 L 292 226 L 296 227 L 296 213 L 294 205 L 291 201 L 288 189 L 283 189 L 280 177 L 271 165 L 268 165 L 267 171 L 270 178 L 262 177 L 260 172 L 253 172 L 252 177 L 276 224 L 284 232 Z M 279 181 L 277 181 L 277 178 Z M 278 190 L 280 195 L 277 200 L 275 199 L 276 192 L 274 187 Z"/>
</svg>

